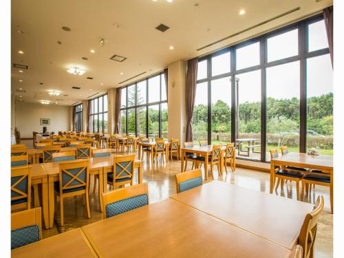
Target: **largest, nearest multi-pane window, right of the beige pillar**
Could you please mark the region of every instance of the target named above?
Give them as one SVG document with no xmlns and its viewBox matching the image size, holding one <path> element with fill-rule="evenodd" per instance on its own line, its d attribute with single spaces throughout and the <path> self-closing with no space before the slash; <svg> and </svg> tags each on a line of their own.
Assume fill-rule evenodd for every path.
<svg viewBox="0 0 344 258">
<path fill-rule="evenodd" d="M 318 15 L 203 56 L 193 140 L 235 142 L 237 157 L 270 160 L 270 149 L 332 155 L 332 66 Z"/>
</svg>

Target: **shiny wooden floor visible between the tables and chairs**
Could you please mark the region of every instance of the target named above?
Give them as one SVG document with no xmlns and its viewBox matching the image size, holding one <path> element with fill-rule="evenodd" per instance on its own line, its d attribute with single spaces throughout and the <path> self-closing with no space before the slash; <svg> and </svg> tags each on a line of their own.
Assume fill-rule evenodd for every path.
<svg viewBox="0 0 344 258">
<path fill-rule="evenodd" d="M 22 143 L 27 144 L 30 147 L 32 140 L 23 141 Z M 189 164 L 191 169 L 191 163 Z M 204 171 L 202 166 L 202 171 Z M 229 171 L 229 169 L 228 169 Z M 175 189 L 175 174 L 180 172 L 180 162 L 173 160 L 165 164 L 147 165 L 144 161 L 144 177 L 143 182 L 149 184 L 149 202 L 159 202 L 164 200 L 170 195 L 176 193 Z M 211 178 L 209 172 L 209 178 Z M 248 189 L 254 189 L 265 193 L 269 192 L 270 174 L 261 171 L 255 171 L 250 169 L 243 169 L 237 167 L 235 173 L 224 173 L 221 178 L 218 178 L 217 171 L 215 170 L 215 180 L 222 180 L 230 182 L 230 184 L 236 184 L 238 186 L 246 187 Z M 209 180 L 211 181 L 211 180 Z M 137 178 L 134 180 L 137 184 Z M 93 178 L 91 182 L 93 186 Z M 93 189 L 93 188 L 92 188 Z M 314 246 L 315 256 L 314 257 L 332 257 L 333 250 L 333 215 L 330 213 L 330 189 L 325 186 L 316 186 L 314 193 L 310 197 L 305 198 L 304 202 L 310 202 L 314 204 L 314 200 L 318 195 L 323 195 L 325 198 L 324 210 L 321 213 L 321 217 L 318 223 L 318 230 L 316 235 L 316 243 Z M 275 193 L 282 197 L 288 197 L 296 200 L 296 187 L 294 182 L 288 182 L 284 189 L 279 190 Z M 65 201 L 64 212 L 65 212 L 65 226 L 60 227 L 60 212 L 59 202 L 56 206 L 54 228 L 51 230 L 43 230 L 43 238 L 56 235 L 58 233 L 72 230 L 73 228 L 79 228 L 86 224 L 96 222 L 102 219 L 102 213 L 100 213 L 98 203 L 98 193 L 89 194 L 89 202 L 91 206 L 91 218 L 87 219 L 85 207 L 83 206 L 83 197 L 70 197 Z M 278 219 L 278 218 L 276 218 Z M 273 223 L 273 222 L 271 222 Z M 288 222 L 286 222 L 288 223 Z M 283 233 L 281 233 L 283 234 Z"/>
</svg>

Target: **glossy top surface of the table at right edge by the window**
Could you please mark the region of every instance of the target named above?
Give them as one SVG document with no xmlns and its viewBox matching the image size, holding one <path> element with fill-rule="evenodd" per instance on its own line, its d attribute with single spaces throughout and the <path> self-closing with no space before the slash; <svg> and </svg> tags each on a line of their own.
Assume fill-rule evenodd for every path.
<svg viewBox="0 0 344 258">
<path fill-rule="evenodd" d="M 331 155 L 310 155 L 307 153 L 288 153 L 286 155 L 279 155 L 278 158 L 271 159 L 274 162 L 300 164 L 302 166 L 319 166 L 327 169 L 333 169 L 333 156 Z"/>
</svg>

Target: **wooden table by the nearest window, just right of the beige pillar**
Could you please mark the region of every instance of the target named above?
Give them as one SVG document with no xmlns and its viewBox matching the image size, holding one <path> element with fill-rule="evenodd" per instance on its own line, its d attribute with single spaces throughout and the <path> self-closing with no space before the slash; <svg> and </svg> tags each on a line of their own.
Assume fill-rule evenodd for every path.
<svg viewBox="0 0 344 258">
<path fill-rule="evenodd" d="M 222 146 L 221 151 L 222 153 L 220 153 L 220 169 L 221 172 L 224 170 L 224 153 L 223 151 L 226 150 L 226 146 Z M 190 153 L 195 153 L 196 155 L 202 155 L 205 159 L 205 167 L 206 167 L 206 171 L 204 171 L 205 174 L 205 178 L 206 180 L 208 180 L 208 157 L 211 155 L 211 153 L 213 153 L 213 145 L 207 145 L 207 146 L 198 146 L 198 145 L 194 145 L 193 147 L 187 147 L 187 148 L 182 148 L 182 162 L 180 164 L 180 171 L 184 172 L 184 156 L 186 152 L 190 152 Z"/>
</svg>

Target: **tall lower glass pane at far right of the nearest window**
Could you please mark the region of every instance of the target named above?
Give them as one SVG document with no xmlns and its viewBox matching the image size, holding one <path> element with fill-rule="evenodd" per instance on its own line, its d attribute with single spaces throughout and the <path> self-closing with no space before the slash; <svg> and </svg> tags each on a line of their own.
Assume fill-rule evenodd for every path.
<svg viewBox="0 0 344 258">
<path fill-rule="evenodd" d="M 333 155 L 333 71 L 330 54 L 307 60 L 307 149 Z"/>
</svg>

